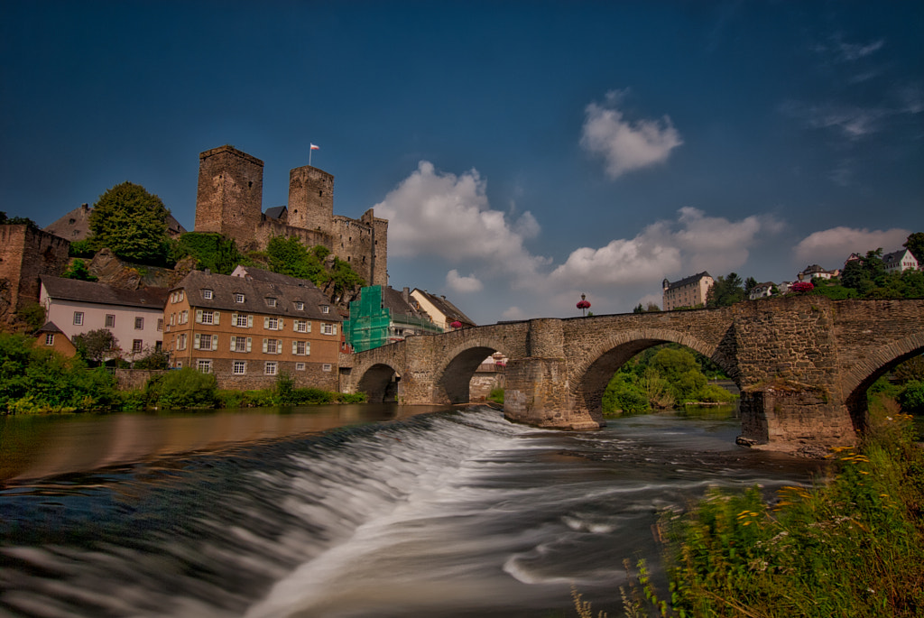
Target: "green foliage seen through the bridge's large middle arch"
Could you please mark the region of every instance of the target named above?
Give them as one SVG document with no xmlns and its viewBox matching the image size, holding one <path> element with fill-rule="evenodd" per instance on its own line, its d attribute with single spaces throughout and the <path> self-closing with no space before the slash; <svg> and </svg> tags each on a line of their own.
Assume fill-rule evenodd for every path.
<svg viewBox="0 0 924 618">
<path fill-rule="evenodd" d="M 607 385 L 602 397 L 604 416 L 641 414 L 688 402 L 721 403 L 735 396 L 710 378 L 725 375 L 708 358 L 680 345 L 657 345 L 631 358 Z"/>
</svg>

